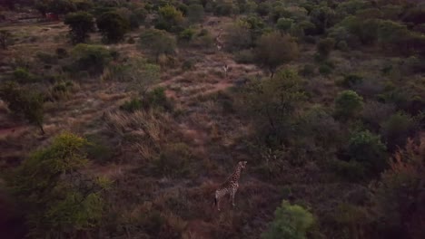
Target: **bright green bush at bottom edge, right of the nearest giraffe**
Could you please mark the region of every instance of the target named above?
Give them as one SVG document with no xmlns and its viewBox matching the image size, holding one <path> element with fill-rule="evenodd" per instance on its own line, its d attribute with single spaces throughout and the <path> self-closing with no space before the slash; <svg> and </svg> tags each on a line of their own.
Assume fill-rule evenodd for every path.
<svg viewBox="0 0 425 239">
<path fill-rule="evenodd" d="M 268 231 L 262 234 L 262 239 L 306 239 L 313 224 L 313 215 L 302 206 L 283 201 L 274 212 L 274 220 Z"/>
</svg>

